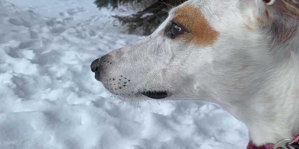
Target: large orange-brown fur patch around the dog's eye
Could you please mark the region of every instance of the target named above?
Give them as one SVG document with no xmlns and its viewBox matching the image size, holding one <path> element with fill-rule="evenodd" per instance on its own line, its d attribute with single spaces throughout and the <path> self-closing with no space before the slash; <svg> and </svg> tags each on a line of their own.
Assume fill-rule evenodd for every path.
<svg viewBox="0 0 299 149">
<path fill-rule="evenodd" d="M 173 21 L 182 25 L 186 32 L 175 40 L 186 40 L 201 46 L 214 44 L 220 33 L 216 31 L 202 15 L 201 11 L 191 5 L 185 5 L 174 11 Z"/>
</svg>

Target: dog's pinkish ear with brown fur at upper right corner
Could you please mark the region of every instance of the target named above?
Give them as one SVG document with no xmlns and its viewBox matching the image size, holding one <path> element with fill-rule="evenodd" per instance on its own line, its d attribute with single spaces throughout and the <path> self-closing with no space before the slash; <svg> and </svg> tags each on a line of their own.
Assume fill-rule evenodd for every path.
<svg viewBox="0 0 299 149">
<path fill-rule="evenodd" d="M 277 46 L 297 36 L 299 0 L 240 0 L 244 23 L 266 34 Z"/>
</svg>

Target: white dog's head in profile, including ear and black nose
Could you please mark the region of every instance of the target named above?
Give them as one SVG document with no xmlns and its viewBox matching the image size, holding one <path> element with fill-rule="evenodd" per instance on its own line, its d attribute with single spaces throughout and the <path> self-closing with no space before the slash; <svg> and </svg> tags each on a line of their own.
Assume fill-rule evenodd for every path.
<svg viewBox="0 0 299 149">
<path fill-rule="evenodd" d="M 290 51 L 298 17 L 281 2 L 189 0 L 144 39 L 93 61 L 113 94 L 232 103 L 264 84 Z"/>
</svg>

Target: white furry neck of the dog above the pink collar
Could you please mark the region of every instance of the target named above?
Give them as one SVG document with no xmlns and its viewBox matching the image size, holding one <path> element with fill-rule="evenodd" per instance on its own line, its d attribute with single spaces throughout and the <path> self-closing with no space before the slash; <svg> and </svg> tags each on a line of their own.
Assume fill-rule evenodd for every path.
<svg viewBox="0 0 299 149">
<path fill-rule="evenodd" d="M 247 125 L 250 139 L 256 145 L 275 144 L 299 134 L 299 56 L 289 48 L 284 52 L 288 59 L 275 64 L 254 97 L 224 106 Z"/>
</svg>

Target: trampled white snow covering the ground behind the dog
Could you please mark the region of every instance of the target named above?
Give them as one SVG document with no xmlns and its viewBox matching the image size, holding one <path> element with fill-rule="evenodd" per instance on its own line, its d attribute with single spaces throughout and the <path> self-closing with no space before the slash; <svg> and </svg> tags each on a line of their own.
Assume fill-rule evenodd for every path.
<svg viewBox="0 0 299 149">
<path fill-rule="evenodd" d="M 1 0 L 0 149 L 243 149 L 246 126 L 201 101 L 122 103 L 90 63 L 141 36 L 93 0 Z"/>
</svg>

